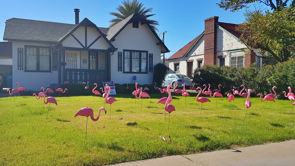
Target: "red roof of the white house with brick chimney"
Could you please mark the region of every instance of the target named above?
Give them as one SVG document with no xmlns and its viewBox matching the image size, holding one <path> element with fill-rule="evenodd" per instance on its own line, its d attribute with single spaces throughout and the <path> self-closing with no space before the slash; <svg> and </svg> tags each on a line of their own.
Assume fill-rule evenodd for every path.
<svg viewBox="0 0 295 166">
<path fill-rule="evenodd" d="M 223 29 L 227 30 L 228 32 L 230 32 L 232 35 L 234 35 L 237 38 L 240 38 L 240 36 L 242 34 L 242 32 L 236 31 L 236 29 L 235 29 L 238 26 L 238 24 L 232 24 L 232 23 L 227 23 L 227 22 L 218 22 L 218 25 L 220 27 L 222 27 Z M 178 50 L 176 53 L 174 53 L 168 59 L 181 58 L 189 50 L 189 48 L 191 48 L 191 46 L 199 38 L 199 36 L 194 38 L 194 40 L 191 40 L 189 43 L 187 43 L 185 46 L 183 46 L 180 50 Z"/>
</svg>

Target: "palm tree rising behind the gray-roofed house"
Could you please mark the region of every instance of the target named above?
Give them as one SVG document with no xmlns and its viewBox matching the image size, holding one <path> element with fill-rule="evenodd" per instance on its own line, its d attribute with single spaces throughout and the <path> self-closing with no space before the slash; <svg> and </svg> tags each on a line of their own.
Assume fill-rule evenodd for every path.
<svg viewBox="0 0 295 166">
<path fill-rule="evenodd" d="M 143 18 L 145 18 L 148 22 L 148 24 L 151 25 L 151 27 L 158 31 L 158 28 L 156 25 L 159 25 L 159 22 L 153 19 L 148 19 L 148 17 L 154 16 L 155 14 L 147 14 L 148 12 L 152 12 L 153 8 L 146 9 L 143 7 L 144 4 L 139 3 L 137 0 L 129 1 L 129 0 L 123 0 L 122 5 L 119 5 L 116 9 L 118 12 L 110 12 L 109 14 L 117 17 L 114 19 L 111 19 L 109 22 L 112 24 L 110 27 L 116 25 L 118 22 L 122 21 L 123 19 L 127 18 L 133 13 L 140 14 Z"/>
</svg>

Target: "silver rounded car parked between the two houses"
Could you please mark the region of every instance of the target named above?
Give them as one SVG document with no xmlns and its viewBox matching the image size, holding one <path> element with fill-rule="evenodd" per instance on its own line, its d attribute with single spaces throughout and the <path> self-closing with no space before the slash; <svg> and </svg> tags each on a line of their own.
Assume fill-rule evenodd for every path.
<svg viewBox="0 0 295 166">
<path fill-rule="evenodd" d="M 185 83 L 186 88 L 189 88 L 192 85 L 191 79 L 183 74 L 167 74 L 165 76 L 164 86 L 172 85 L 173 88 L 176 87 L 176 83 L 178 87 L 181 87 L 183 83 Z"/>
</svg>

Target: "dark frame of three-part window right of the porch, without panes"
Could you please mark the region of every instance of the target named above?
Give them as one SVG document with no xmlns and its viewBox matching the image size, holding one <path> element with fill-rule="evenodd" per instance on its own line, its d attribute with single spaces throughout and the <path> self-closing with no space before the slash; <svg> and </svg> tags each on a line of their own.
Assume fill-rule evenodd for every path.
<svg viewBox="0 0 295 166">
<path fill-rule="evenodd" d="M 130 70 L 125 71 L 125 51 L 130 52 L 130 57 L 129 57 L 129 64 L 130 64 Z M 132 71 L 132 52 L 139 52 L 139 72 Z M 146 53 L 146 72 L 141 72 L 141 53 Z M 143 50 L 127 50 L 123 49 L 123 73 L 133 73 L 133 74 L 148 74 L 148 51 L 143 51 Z"/>
</svg>

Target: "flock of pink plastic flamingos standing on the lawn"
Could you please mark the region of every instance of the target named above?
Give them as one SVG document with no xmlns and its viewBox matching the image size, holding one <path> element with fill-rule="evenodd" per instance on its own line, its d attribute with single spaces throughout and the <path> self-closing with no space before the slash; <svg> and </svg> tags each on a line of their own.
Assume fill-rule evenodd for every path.
<svg viewBox="0 0 295 166">
<path fill-rule="evenodd" d="M 13 94 L 16 94 L 16 93 L 19 93 L 19 91 L 23 91 L 25 90 L 26 88 L 24 87 L 19 87 L 19 82 L 17 82 L 17 89 L 12 89 L 12 91 L 10 92 L 9 89 L 7 89 L 7 92 L 9 93 L 9 95 L 13 95 Z M 94 89 L 92 89 L 92 92 L 94 95 L 101 95 L 101 93 L 98 91 L 98 90 L 95 90 L 97 88 L 97 84 L 95 83 L 94 85 L 96 85 L 94 87 Z M 180 94 L 185 97 L 185 100 L 186 100 L 186 97 L 189 97 L 189 93 L 186 92 L 186 89 L 185 89 L 185 84 L 182 85 L 183 89 L 180 90 L 180 89 L 176 89 L 178 86 L 176 84 L 176 87 L 172 90 L 172 86 L 169 84 L 167 88 L 159 88 L 156 86 L 157 84 L 155 83 L 155 86 L 154 86 L 154 89 L 157 89 L 157 90 L 160 90 L 161 93 L 167 93 L 168 94 L 168 97 L 163 97 L 161 98 L 160 100 L 158 100 L 157 104 L 158 103 L 161 103 L 161 104 L 164 104 L 164 110 L 165 110 L 165 119 L 166 119 L 166 112 L 169 113 L 169 125 L 168 125 L 168 129 L 170 127 L 170 113 L 175 111 L 175 107 L 172 105 L 172 104 L 169 104 L 172 102 L 172 96 L 171 96 L 171 92 L 174 92 L 174 93 L 177 93 L 177 94 Z M 211 90 L 210 89 L 210 84 L 209 84 L 209 87 L 208 87 L 208 90 L 207 89 L 207 85 L 203 85 L 204 86 L 204 89 L 202 90 L 201 87 L 197 87 L 195 88 L 194 86 L 191 86 L 190 87 L 190 90 L 193 90 L 193 91 L 199 91 L 198 95 L 196 96 L 196 101 L 197 102 L 201 102 L 202 105 L 201 105 L 201 112 L 202 112 L 202 107 L 203 107 L 203 103 L 205 102 L 211 102 L 208 98 L 206 97 L 199 97 L 201 94 L 204 94 L 204 95 L 209 95 L 209 97 L 223 97 L 223 95 L 220 93 L 221 89 L 221 84 L 218 85 L 218 89 L 213 89 Z M 250 93 L 253 92 L 252 89 L 245 89 L 245 86 L 244 85 L 241 85 L 240 87 L 243 87 L 242 90 L 239 92 L 238 90 L 235 90 L 235 89 L 232 89 L 232 92 L 233 94 L 227 94 L 227 97 L 228 97 L 228 101 L 231 103 L 231 101 L 235 100 L 235 95 L 239 95 L 241 97 L 244 97 L 244 101 L 245 101 L 245 98 L 246 98 L 246 101 L 245 101 L 245 107 L 246 107 L 246 114 L 245 114 L 245 118 L 246 118 L 246 115 L 247 115 L 247 110 L 248 108 L 251 107 L 251 102 L 249 101 L 249 98 L 250 98 Z M 108 86 L 107 84 L 105 85 L 105 88 L 100 88 L 101 91 L 103 92 L 103 95 L 102 97 L 105 99 L 105 103 L 109 104 L 110 105 L 110 119 L 111 119 L 111 105 L 112 103 L 116 102 L 117 100 L 114 98 L 114 97 L 109 97 L 110 95 L 110 92 L 111 92 L 111 89 L 114 89 L 115 87 L 110 87 Z M 275 102 L 274 98 L 277 96 L 276 92 L 275 92 L 275 88 L 276 86 L 274 86 L 272 88 L 273 93 L 270 93 L 270 94 L 267 94 L 264 99 L 262 100 L 262 95 L 259 93 L 257 96 L 260 96 L 260 101 L 264 102 L 264 101 L 272 101 L 272 102 Z M 43 102 L 44 104 L 48 104 L 49 103 L 49 106 L 48 106 L 48 110 L 47 110 L 47 116 L 46 116 L 46 119 L 48 117 L 48 112 L 49 112 L 49 108 L 50 108 L 50 103 L 53 103 L 55 105 L 58 105 L 57 104 L 57 101 L 55 100 L 54 97 L 51 97 L 51 96 L 47 96 L 46 93 L 54 93 L 54 91 L 50 88 L 47 88 L 46 91 L 44 91 L 44 87 L 41 88 L 43 90 L 43 92 L 40 92 L 38 94 L 38 96 L 34 93 L 33 96 L 36 97 L 37 100 L 39 100 L 40 98 L 43 97 Z M 85 87 L 86 90 L 89 89 L 89 82 L 87 82 L 87 86 Z M 127 87 L 126 89 L 128 90 L 128 84 L 127 84 Z M 148 95 L 147 92 L 144 92 L 144 91 L 149 91 L 149 89 L 147 87 L 145 88 L 137 88 L 137 83 L 135 83 L 135 91 L 132 92 L 132 95 L 135 95 L 135 98 L 136 99 L 141 99 L 141 107 L 142 107 L 142 98 L 143 97 L 148 97 L 150 98 L 150 95 Z M 284 93 L 284 96 L 287 97 L 289 100 L 291 101 L 295 101 L 295 95 L 294 93 L 291 92 L 291 87 L 288 87 L 289 89 L 289 93 L 286 93 L 285 91 L 283 91 Z M 61 88 L 58 88 L 55 90 L 55 92 L 59 92 L 59 93 L 65 93 L 65 91 L 68 90 L 68 89 L 61 89 Z M 244 92 L 245 91 L 245 92 Z M 213 96 L 212 96 L 212 93 L 214 92 Z M 139 95 L 137 97 L 137 95 Z M 45 97 L 47 97 L 46 101 L 45 101 Z M 135 104 L 136 104 L 136 99 L 135 99 Z M 41 100 L 42 102 L 42 100 Z M 217 100 L 216 100 L 216 104 L 217 104 Z M 292 103 L 292 106 L 295 105 L 295 102 Z M 141 110 L 141 107 L 140 107 L 140 110 Z M 293 107 L 292 107 L 293 109 Z M 90 107 L 84 107 L 84 108 L 81 108 L 80 110 L 78 110 L 78 112 L 75 114 L 74 117 L 76 116 L 86 116 L 87 117 L 87 120 L 86 120 L 86 136 L 87 136 L 87 122 L 88 122 L 88 117 L 90 116 L 91 120 L 92 121 L 97 121 L 99 120 L 99 117 L 100 117 L 100 112 L 101 110 L 103 110 L 105 113 L 106 113 L 106 109 L 104 107 L 101 107 L 99 109 L 99 113 L 98 113 L 98 116 L 97 118 L 94 118 L 94 111 L 92 108 Z M 200 112 L 200 114 L 201 114 Z M 244 119 L 245 121 L 245 119 Z M 86 137 L 85 137 L 86 138 Z"/>
</svg>

